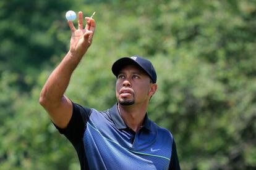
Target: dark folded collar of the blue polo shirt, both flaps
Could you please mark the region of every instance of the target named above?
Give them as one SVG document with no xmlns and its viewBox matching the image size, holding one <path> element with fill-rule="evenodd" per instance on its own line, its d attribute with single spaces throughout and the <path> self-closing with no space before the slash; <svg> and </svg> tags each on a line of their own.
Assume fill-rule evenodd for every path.
<svg viewBox="0 0 256 170">
<path fill-rule="evenodd" d="M 116 124 L 117 129 L 126 129 L 127 125 L 124 123 L 124 120 L 122 119 L 121 115 L 119 114 L 119 110 L 117 108 L 117 103 L 109 109 L 109 114 L 111 118 L 114 121 L 114 124 Z M 151 121 L 148 118 L 148 115 L 146 113 L 145 118 L 143 120 L 142 127 L 145 127 L 149 131 L 151 131 Z"/>
</svg>

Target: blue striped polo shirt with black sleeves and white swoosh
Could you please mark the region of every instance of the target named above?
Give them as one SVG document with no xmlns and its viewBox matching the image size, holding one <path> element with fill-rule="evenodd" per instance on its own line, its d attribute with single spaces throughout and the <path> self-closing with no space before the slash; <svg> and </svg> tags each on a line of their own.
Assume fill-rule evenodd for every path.
<svg viewBox="0 0 256 170">
<path fill-rule="evenodd" d="M 180 169 L 171 132 L 147 115 L 141 129 L 132 131 L 117 104 L 97 111 L 73 103 L 69 124 L 59 132 L 77 151 L 81 169 Z"/>
</svg>

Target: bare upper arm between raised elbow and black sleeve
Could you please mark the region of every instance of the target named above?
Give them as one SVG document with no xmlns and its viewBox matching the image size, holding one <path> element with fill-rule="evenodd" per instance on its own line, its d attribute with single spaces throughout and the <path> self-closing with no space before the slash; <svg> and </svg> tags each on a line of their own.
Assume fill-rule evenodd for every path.
<svg viewBox="0 0 256 170">
<path fill-rule="evenodd" d="M 58 105 L 52 105 L 45 109 L 56 126 L 62 129 L 67 127 L 73 112 L 72 102 L 69 98 L 64 95 Z"/>
</svg>

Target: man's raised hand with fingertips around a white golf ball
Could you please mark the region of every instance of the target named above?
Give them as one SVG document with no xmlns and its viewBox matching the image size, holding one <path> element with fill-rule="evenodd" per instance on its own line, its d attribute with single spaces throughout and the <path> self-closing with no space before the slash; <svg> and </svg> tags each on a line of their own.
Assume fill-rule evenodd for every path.
<svg viewBox="0 0 256 170">
<path fill-rule="evenodd" d="M 78 29 L 72 21 L 68 20 L 69 28 L 72 32 L 70 39 L 70 49 L 72 55 L 82 57 L 92 44 L 93 34 L 95 31 L 95 20 L 90 17 L 85 17 L 86 25 L 83 28 L 83 12 L 79 12 Z"/>
</svg>

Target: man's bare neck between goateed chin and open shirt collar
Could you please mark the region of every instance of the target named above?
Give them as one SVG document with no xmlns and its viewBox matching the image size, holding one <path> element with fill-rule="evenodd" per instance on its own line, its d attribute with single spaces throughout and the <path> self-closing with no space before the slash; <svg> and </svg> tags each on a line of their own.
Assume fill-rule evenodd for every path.
<svg viewBox="0 0 256 170">
<path fill-rule="evenodd" d="M 118 103 L 117 108 L 126 125 L 135 132 L 139 131 L 147 112 L 147 105 L 125 106 Z"/>
</svg>

